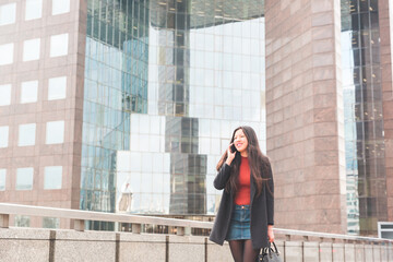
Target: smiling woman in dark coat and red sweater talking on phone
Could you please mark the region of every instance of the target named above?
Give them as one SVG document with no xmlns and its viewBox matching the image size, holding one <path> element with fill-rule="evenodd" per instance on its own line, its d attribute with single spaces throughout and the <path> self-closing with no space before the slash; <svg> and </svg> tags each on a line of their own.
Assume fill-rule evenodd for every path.
<svg viewBox="0 0 393 262">
<path fill-rule="evenodd" d="M 224 191 L 210 240 L 227 240 L 235 262 L 254 262 L 267 240 L 274 241 L 274 183 L 252 128 L 235 129 L 217 171 L 214 187 Z"/>
</svg>

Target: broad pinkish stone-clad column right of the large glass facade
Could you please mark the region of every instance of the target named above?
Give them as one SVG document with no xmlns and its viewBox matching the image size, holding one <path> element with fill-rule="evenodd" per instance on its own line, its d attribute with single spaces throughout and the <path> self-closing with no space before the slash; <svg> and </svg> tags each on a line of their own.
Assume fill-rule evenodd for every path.
<svg viewBox="0 0 393 262">
<path fill-rule="evenodd" d="M 266 140 L 276 225 L 346 233 L 341 2 L 266 0 Z"/>
</svg>

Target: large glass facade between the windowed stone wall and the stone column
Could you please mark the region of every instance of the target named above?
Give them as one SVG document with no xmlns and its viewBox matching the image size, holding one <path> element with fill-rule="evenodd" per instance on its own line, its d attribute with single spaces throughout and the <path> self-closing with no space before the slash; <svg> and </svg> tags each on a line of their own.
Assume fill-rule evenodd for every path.
<svg viewBox="0 0 393 262">
<path fill-rule="evenodd" d="M 88 1 L 82 210 L 214 215 L 233 130 L 265 151 L 263 5 Z"/>
</svg>

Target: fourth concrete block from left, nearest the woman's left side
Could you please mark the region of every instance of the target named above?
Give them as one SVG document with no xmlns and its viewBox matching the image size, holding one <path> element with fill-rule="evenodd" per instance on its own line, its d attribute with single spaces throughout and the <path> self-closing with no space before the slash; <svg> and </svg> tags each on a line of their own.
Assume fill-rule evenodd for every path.
<svg viewBox="0 0 393 262">
<path fill-rule="evenodd" d="M 205 237 L 169 236 L 170 262 L 201 262 L 205 260 Z"/>
</svg>

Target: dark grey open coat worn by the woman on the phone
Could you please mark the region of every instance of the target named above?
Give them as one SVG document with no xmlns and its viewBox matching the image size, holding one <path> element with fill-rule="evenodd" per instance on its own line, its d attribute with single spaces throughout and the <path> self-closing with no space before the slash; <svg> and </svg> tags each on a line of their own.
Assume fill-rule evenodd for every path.
<svg viewBox="0 0 393 262">
<path fill-rule="evenodd" d="M 269 164 L 269 175 L 270 178 L 267 183 L 270 190 L 266 189 L 266 184 L 263 183 L 262 192 L 260 195 L 257 195 L 257 186 L 254 179 L 251 176 L 251 240 L 252 247 L 254 249 L 261 249 L 267 247 L 267 225 L 274 225 L 274 182 L 272 168 Z M 228 179 L 230 177 L 230 166 L 224 164 L 221 170 L 218 171 L 216 178 L 214 179 L 214 187 L 218 190 L 225 188 Z M 272 193 L 271 193 L 271 192 Z M 213 229 L 210 236 L 210 240 L 215 243 L 223 245 L 225 237 L 227 235 L 230 216 L 234 207 L 234 196 L 235 192 L 223 191 L 223 196 L 221 200 L 218 213 L 215 217 Z"/>
</svg>

